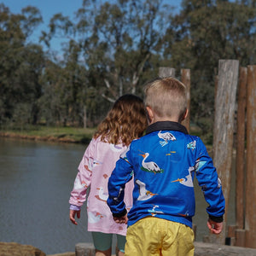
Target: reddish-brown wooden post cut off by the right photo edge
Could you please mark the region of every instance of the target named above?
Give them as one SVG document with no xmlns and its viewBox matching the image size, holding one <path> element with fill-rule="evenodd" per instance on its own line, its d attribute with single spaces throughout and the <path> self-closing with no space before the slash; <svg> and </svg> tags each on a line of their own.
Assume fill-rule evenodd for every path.
<svg viewBox="0 0 256 256">
<path fill-rule="evenodd" d="M 256 66 L 247 67 L 246 247 L 256 248 Z"/>
</svg>

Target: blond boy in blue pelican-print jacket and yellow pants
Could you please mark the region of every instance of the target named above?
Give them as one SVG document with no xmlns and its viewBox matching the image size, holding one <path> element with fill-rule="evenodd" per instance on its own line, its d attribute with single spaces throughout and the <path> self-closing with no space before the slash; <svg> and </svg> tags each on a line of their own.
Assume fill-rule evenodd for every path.
<svg viewBox="0 0 256 256">
<path fill-rule="evenodd" d="M 146 85 L 146 135 L 121 155 L 108 181 L 113 219 L 126 223 L 124 188 L 134 176 L 125 255 L 194 255 L 195 176 L 209 204 L 209 230 L 219 234 L 223 228 L 224 195 L 212 159 L 201 139 L 180 124 L 186 102 L 186 87 L 177 79 Z"/>
</svg>

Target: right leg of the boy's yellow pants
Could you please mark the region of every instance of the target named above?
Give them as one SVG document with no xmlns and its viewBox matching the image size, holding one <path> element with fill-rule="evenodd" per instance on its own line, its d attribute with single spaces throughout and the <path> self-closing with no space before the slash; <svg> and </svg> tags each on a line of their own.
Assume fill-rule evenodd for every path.
<svg viewBox="0 0 256 256">
<path fill-rule="evenodd" d="M 166 236 L 163 239 L 162 255 L 193 256 L 194 232 L 184 224 L 166 222 Z"/>
</svg>

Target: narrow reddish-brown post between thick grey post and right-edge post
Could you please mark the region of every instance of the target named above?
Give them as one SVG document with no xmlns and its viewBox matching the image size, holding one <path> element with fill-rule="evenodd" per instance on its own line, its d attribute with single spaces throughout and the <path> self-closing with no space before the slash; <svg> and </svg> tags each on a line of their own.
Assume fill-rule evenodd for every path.
<svg viewBox="0 0 256 256">
<path fill-rule="evenodd" d="M 245 114 L 247 104 L 247 67 L 240 67 L 236 141 L 236 227 L 244 229 L 245 209 Z M 241 246 L 241 242 L 239 242 Z"/>
</svg>

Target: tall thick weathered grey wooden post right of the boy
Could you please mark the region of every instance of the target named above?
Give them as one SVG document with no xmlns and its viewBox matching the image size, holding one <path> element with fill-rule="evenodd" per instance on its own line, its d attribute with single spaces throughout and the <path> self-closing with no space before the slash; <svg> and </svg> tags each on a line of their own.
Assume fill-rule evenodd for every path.
<svg viewBox="0 0 256 256">
<path fill-rule="evenodd" d="M 211 235 L 210 241 L 224 244 L 226 236 L 226 216 L 230 199 L 230 178 L 233 149 L 233 130 L 236 106 L 236 88 L 239 61 L 218 61 L 218 90 L 215 99 L 215 117 L 213 131 L 213 163 L 222 181 L 222 189 L 226 201 L 224 214 L 224 230 L 218 235 Z"/>
</svg>

